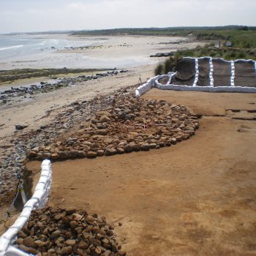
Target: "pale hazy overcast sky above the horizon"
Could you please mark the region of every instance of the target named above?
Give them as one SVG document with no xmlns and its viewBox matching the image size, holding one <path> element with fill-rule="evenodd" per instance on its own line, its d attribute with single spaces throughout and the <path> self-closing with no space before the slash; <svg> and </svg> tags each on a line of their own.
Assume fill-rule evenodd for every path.
<svg viewBox="0 0 256 256">
<path fill-rule="evenodd" d="M 0 33 L 256 26 L 256 0 L 0 0 Z"/>
</svg>

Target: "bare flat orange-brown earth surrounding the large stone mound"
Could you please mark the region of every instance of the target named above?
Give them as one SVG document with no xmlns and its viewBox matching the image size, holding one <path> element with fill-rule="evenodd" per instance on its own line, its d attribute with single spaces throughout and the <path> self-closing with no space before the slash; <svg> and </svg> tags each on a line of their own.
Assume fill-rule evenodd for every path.
<svg viewBox="0 0 256 256">
<path fill-rule="evenodd" d="M 256 94 L 143 98 L 187 105 L 200 129 L 168 148 L 55 162 L 48 205 L 105 215 L 128 255 L 256 255 Z"/>
</svg>

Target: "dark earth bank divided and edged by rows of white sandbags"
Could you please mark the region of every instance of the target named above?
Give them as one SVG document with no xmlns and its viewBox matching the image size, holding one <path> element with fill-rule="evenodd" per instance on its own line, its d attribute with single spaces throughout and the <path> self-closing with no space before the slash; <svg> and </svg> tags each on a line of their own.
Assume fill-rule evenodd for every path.
<svg viewBox="0 0 256 256">
<path fill-rule="evenodd" d="M 169 77 L 164 85 L 159 83 L 162 78 Z M 256 92 L 256 62 L 253 60 L 225 61 L 224 59 L 201 57 L 198 59 L 186 57 L 178 61 L 176 72 L 151 78 L 151 86 L 140 86 L 136 95 L 153 87 L 161 90 L 178 91 L 230 91 Z M 152 84 L 154 83 L 154 85 Z M 136 90 L 136 91 L 137 91 Z"/>
</svg>

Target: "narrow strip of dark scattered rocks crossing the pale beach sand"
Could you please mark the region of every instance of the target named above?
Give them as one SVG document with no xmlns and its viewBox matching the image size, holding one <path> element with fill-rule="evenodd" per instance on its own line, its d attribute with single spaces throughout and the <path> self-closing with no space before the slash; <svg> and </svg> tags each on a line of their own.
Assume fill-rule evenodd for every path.
<svg viewBox="0 0 256 256">
<path fill-rule="evenodd" d="M 43 94 L 50 91 L 62 89 L 67 86 L 75 86 L 76 83 L 81 83 L 87 80 L 94 80 L 104 78 L 111 75 L 118 75 L 118 73 L 128 72 L 128 70 L 113 70 L 108 72 L 100 72 L 95 75 L 79 75 L 72 78 L 59 78 L 51 82 L 41 82 L 31 86 L 11 87 L 10 89 L 0 92 L 0 106 L 10 105 L 20 97 L 27 98 L 34 94 Z"/>
</svg>

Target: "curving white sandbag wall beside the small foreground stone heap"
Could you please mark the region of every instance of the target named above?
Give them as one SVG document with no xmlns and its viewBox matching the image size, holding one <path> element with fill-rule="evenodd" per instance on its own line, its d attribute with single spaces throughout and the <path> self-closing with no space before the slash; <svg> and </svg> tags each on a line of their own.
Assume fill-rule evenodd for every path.
<svg viewBox="0 0 256 256">
<path fill-rule="evenodd" d="M 37 187 L 34 189 L 34 195 L 25 204 L 23 211 L 18 219 L 16 219 L 15 223 L 0 237 L 0 256 L 28 255 L 12 246 L 12 241 L 17 236 L 18 231 L 21 230 L 29 220 L 31 211 L 34 208 L 39 209 L 45 206 L 50 193 L 51 180 L 52 172 L 50 160 L 44 160 L 41 165 L 41 175 Z"/>
</svg>

